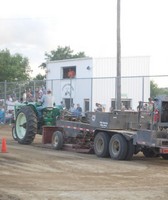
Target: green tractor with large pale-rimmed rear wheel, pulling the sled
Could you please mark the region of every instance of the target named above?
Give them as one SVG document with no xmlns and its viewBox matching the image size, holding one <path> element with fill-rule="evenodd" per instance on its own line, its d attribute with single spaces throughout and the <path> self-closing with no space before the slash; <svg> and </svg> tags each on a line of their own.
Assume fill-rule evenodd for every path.
<svg viewBox="0 0 168 200">
<path fill-rule="evenodd" d="M 12 136 L 20 144 L 31 144 L 36 134 L 42 135 L 43 126 L 54 126 L 56 119 L 60 116 L 62 107 L 55 106 L 43 108 L 37 102 L 24 102 L 15 105 Z"/>
</svg>

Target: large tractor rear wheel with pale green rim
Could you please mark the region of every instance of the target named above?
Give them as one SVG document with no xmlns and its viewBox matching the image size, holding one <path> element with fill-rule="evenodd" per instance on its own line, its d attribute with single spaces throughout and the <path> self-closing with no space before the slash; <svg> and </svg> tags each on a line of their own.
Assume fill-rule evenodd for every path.
<svg viewBox="0 0 168 200">
<path fill-rule="evenodd" d="M 16 116 L 15 134 L 20 144 L 31 144 L 37 133 L 37 116 L 30 106 L 22 107 Z"/>
</svg>

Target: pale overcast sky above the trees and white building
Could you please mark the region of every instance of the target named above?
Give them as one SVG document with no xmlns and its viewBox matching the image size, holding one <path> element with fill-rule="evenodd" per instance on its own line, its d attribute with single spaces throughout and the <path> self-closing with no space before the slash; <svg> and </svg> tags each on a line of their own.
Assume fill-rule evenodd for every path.
<svg viewBox="0 0 168 200">
<path fill-rule="evenodd" d="M 116 57 L 117 0 L 0 0 L 0 50 L 27 57 L 35 76 L 45 52 L 70 46 Z M 121 0 L 121 56 L 149 56 L 168 75 L 168 0 Z"/>
</svg>

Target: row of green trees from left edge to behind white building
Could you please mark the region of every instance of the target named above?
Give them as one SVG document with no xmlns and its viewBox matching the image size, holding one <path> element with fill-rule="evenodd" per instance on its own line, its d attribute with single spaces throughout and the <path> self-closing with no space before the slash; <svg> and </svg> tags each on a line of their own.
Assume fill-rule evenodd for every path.
<svg viewBox="0 0 168 200">
<path fill-rule="evenodd" d="M 86 57 L 84 52 L 74 53 L 69 46 L 58 46 L 56 50 L 45 53 L 44 56 L 46 61 Z M 39 68 L 45 69 L 46 63 L 41 63 Z M 0 50 L 0 72 L 0 82 L 32 80 L 29 59 L 19 53 L 13 55 L 8 49 Z M 45 75 L 39 73 L 33 80 L 44 80 L 44 78 Z"/>
</svg>

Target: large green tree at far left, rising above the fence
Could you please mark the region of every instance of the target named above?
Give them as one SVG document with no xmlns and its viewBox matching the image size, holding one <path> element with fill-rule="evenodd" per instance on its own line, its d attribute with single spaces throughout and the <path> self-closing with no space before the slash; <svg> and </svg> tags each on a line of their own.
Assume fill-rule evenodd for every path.
<svg viewBox="0 0 168 200">
<path fill-rule="evenodd" d="M 29 80 L 29 61 L 19 53 L 11 55 L 8 49 L 0 50 L 0 72 L 0 82 Z"/>
</svg>

